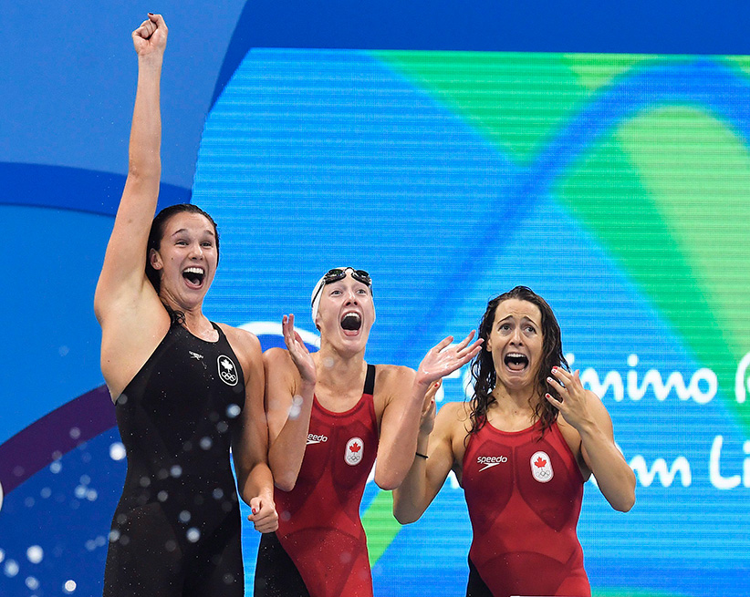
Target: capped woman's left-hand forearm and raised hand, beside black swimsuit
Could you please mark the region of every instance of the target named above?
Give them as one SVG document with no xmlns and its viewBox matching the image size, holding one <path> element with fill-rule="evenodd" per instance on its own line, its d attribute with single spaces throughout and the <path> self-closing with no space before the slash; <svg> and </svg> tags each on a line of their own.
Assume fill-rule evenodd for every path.
<svg viewBox="0 0 750 597">
<path fill-rule="evenodd" d="M 287 350 L 263 355 L 266 367 L 266 414 L 270 448 L 268 463 L 278 489 L 290 491 L 302 467 L 310 427 L 316 369 L 302 338 L 294 331 L 294 315 L 282 319 Z"/>
</svg>

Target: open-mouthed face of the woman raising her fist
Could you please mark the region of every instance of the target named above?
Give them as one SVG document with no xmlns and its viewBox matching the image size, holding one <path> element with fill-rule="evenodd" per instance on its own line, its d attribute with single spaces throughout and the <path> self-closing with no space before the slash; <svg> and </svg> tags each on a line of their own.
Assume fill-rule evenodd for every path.
<svg viewBox="0 0 750 597">
<path fill-rule="evenodd" d="M 182 310 L 202 304 L 218 263 L 214 224 L 200 213 L 175 213 L 164 223 L 149 261 L 160 276 L 162 298 Z"/>
</svg>

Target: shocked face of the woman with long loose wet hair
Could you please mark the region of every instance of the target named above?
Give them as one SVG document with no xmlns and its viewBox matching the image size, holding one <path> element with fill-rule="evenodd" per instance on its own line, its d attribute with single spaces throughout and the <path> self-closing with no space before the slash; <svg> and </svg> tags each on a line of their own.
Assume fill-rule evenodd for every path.
<svg viewBox="0 0 750 597">
<path fill-rule="evenodd" d="M 492 355 L 498 384 L 508 390 L 532 388 L 543 349 L 542 314 L 536 304 L 511 298 L 497 305 L 484 350 Z"/>
</svg>

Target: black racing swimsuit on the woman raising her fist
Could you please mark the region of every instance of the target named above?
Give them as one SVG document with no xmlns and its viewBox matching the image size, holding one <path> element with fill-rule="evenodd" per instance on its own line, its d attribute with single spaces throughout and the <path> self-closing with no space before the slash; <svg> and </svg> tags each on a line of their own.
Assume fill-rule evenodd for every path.
<svg viewBox="0 0 750 597">
<path fill-rule="evenodd" d="M 241 596 L 240 509 L 229 448 L 245 407 L 239 360 L 172 324 L 116 402 L 128 456 L 104 596 Z"/>
</svg>

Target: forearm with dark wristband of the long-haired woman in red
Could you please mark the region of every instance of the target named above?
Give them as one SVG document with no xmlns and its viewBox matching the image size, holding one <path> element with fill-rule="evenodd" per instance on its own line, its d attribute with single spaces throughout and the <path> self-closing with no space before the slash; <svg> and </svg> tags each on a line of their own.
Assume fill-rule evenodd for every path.
<svg viewBox="0 0 750 597">
<path fill-rule="evenodd" d="M 446 404 L 435 417 L 434 401 L 430 400 L 428 404 L 416 449 L 428 458 L 415 457 L 401 486 L 393 489 L 393 516 L 401 524 L 419 520 L 453 468 L 456 459 L 453 455 L 453 429 L 460 425 L 459 407 L 462 405 Z"/>
</svg>

